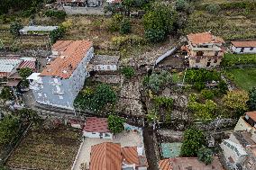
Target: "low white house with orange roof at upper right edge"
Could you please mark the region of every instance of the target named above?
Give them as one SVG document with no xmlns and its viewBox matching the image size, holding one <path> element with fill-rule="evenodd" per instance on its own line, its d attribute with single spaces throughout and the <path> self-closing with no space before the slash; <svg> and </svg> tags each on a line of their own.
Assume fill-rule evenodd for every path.
<svg viewBox="0 0 256 170">
<path fill-rule="evenodd" d="M 231 49 L 236 54 L 256 54 L 256 40 L 231 41 Z"/>
</svg>

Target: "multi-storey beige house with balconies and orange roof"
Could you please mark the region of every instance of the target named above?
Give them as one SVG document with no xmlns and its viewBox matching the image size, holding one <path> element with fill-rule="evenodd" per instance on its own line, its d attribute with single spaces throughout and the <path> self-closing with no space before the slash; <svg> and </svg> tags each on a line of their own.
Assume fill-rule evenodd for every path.
<svg viewBox="0 0 256 170">
<path fill-rule="evenodd" d="M 187 35 L 187 56 L 189 67 L 211 68 L 220 65 L 224 56 L 224 40 L 210 32 Z"/>
</svg>

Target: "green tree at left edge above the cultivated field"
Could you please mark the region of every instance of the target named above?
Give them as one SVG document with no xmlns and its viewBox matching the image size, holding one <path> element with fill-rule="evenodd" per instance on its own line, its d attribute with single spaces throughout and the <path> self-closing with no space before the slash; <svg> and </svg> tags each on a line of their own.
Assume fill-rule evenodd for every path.
<svg viewBox="0 0 256 170">
<path fill-rule="evenodd" d="M 13 116 L 6 116 L 0 121 L 0 144 L 6 144 L 14 139 L 19 129 L 19 121 Z"/>
</svg>

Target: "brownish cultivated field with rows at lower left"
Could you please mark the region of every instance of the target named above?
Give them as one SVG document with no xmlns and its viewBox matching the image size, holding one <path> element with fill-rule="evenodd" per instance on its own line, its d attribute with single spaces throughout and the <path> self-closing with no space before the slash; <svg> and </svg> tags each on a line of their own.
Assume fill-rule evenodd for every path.
<svg viewBox="0 0 256 170">
<path fill-rule="evenodd" d="M 31 130 L 7 161 L 7 166 L 42 170 L 68 170 L 79 146 L 77 131 Z"/>
</svg>

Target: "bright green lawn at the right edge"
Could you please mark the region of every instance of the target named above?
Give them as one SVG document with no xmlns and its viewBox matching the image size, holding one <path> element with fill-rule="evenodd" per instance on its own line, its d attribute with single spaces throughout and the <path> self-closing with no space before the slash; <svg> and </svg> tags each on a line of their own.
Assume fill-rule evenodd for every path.
<svg viewBox="0 0 256 170">
<path fill-rule="evenodd" d="M 256 68 L 229 69 L 227 73 L 233 75 L 233 82 L 244 90 L 250 90 L 256 86 Z"/>
</svg>

